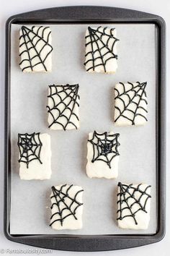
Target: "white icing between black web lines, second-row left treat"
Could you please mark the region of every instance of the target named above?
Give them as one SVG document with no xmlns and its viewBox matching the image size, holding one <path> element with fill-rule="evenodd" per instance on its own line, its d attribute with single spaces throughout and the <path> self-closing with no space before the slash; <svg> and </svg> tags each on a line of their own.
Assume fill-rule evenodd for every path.
<svg viewBox="0 0 170 256">
<path fill-rule="evenodd" d="M 80 121 L 77 119 L 77 117 L 79 118 L 79 94 L 76 97 L 76 103 L 75 101 L 71 101 L 71 98 L 68 96 L 66 97 L 66 93 L 63 91 L 63 88 L 60 88 L 60 85 L 57 85 L 57 90 L 59 93 L 56 93 L 55 87 L 51 88 L 51 92 L 54 93 L 55 95 L 53 95 L 53 99 L 52 98 L 48 98 L 48 107 L 49 108 L 53 108 L 52 111 L 50 111 L 53 116 L 55 117 L 55 119 L 57 119 L 56 123 L 53 123 L 53 116 L 52 114 L 48 113 L 48 124 L 52 124 L 50 126 L 50 129 L 53 130 L 61 130 L 63 129 L 63 127 L 66 127 L 66 129 L 79 129 L 80 127 Z M 50 88 L 48 89 L 48 95 L 50 95 Z M 72 96 L 72 94 L 71 94 Z M 61 100 L 62 99 L 62 100 Z M 54 108 L 54 102 L 55 102 L 55 106 L 57 106 L 58 109 Z M 68 104 L 69 102 L 71 102 L 69 104 L 69 108 L 73 109 L 72 114 L 69 108 L 66 108 L 66 106 L 64 104 Z M 63 116 L 59 117 L 59 114 L 62 113 Z M 77 117 L 76 117 L 77 116 Z M 67 117 L 67 119 L 66 119 Z M 69 119 L 69 123 L 68 123 L 68 119 Z"/>
</svg>

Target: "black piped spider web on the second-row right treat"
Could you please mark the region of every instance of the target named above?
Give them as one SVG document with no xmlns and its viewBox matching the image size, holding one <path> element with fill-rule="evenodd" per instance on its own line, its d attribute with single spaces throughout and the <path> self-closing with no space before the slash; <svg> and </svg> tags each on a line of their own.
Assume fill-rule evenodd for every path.
<svg viewBox="0 0 170 256">
<path fill-rule="evenodd" d="M 131 121 L 132 125 L 135 125 L 136 116 L 141 116 L 143 119 L 148 121 L 148 119 L 146 118 L 146 114 L 148 113 L 148 111 L 146 108 L 141 106 L 142 101 L 144 101 L 146 105 L 148 105 L 148 101 L 146 100 L 147 82 L 142 82 L 142 83 L 137 82 L 137 85 L 134 85 L 133 83 L 128 82 L 128 84 L 131 85 L 131 88 L 128 90 L 126 90 L 125 84 L 122 82 L 120 82 L 120 85 L 122 85 L 122 88 L 120 88 L 120 90 L 118 90 L 118 88 L 115 88 L 115 91 L 117 92 L 117 96 L 115 97 L 115 100 L 120 100 L 123 103 L 122 111 L 117 106 L 117 104 L 115 105 L 115 108 L 117 109 L 117 111 L 119 111 L 119 115 L 115 119 L 115 122 L 118 119 L 120 119 L 120 116 Z M 122 93 L 120 93 L 120 91 L 122 91 L 121 89 L 123 89 Z M 126 97 L 128 103 L 125 103 L 124 97 Z M 133 111 L 133 108 L 135 108 L 134 111 Z M 140 113 L 139 113 L 139 110 L 140 110 Z M 129 114 L 133 114 L 133 118 L 130 118 Z"/>
</svg>

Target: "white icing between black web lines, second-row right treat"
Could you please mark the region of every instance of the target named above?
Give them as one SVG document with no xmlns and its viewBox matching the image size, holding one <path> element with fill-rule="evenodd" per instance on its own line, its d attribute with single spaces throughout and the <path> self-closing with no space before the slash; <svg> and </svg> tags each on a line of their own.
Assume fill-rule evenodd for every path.
<svg viewBox="0 0 170 256">
<path fill-rule="evenodd" d="M 139 97 L 138 96 L 135 96 L 135 98 L 133 98 L 134 95 L 135 95 L 135 92 L 137 92 L 139 90 L 138 87 L 135 88 L 138 85 L 138 83 L 133 82 L 133 86 L 134 86 L 133 90 L 131 90 L 132 85 L 130 85 L 129 83 L 124 83 L 124 85 L 125 85 L 125 91 L 126 92 L 128 91 L 127 95 L 122 95 L 121 99 L 120 98 L 115 99 L 115 118 L 114 119 L 115 119 L 115 125 L 117 125 L 117 126 L 132 125 L 132 121 L 130 121 L 130 120 L 133 119 L 134 114 L 131 111 L 135 112 L 135 110 L 136 110 L 136 104 L 135 103 L 139 102 Z M 115 97 L 117 97 L 117 95 L 118 95 L 117 91 L 119 92 L 119 94 L 122 94 L 124 92 L 123 86 L 120 83 L 115 85 L 115 89 L 116 89 L 115 90 Z M 140 90 L 138 93 L 140 95 L 142 95 L 142 100 L 139 103 L 140 108 L 137 108 L 136 114 L 141 114 L 141 115 L 143 115 L 147 118 L 147 112 L 146 112 L 147 111 L 147 104 L 146 104 L 147 98 L 146 98 L 146 95 L 145 95 L 145 93 L 143 93 L 143 90 Z M 132 99 L 133 99 L 133 101 L 135 101 L 135 103 L 131 102 L 129 104 L 129 102 L 132 101 Z M 146 101 L 144 101 L 144 100 L 146 100 Z M 123 101 L 125 103 L 125 106 L 128 106 L 127 108 L 125 108 Z M 120 108 L 120 111 L 122 112 L 123 116 L 120 116 L 120 111 L 116 107 Z M 143 108 L 145 108 L 146 111 L 144 111 Z M 120 116 L 120 117 L 117 119 L 118 116 Z M 127 116 L 128 119 L 125 118 L 125 116 Z M 134 125 L 138 126 L 138 125 L 146 124 L 146 119 L 143 118 L 143 116 L 140 116 L 140 115 L 135 116 L 135 120 L 134 120 L 135 124 Z"/>
</svg>

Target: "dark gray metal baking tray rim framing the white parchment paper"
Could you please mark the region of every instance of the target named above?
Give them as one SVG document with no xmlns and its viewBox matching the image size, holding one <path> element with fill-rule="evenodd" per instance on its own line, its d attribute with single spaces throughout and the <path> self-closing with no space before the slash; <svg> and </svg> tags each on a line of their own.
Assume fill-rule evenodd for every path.
<svg viewBox="0 0 170 256">
<path fill-rule="evenodd" d="M 10 234 L 11 142 L 10 142 L 10 33 L 12 24 L 85 24 L 85 23 L 146 23 L 158 28 L 156 58 L 156 234 L 129 235 L 12 235 Z M 165 234 L 165 126 L 166 126 L 166 48 L 165 22 L 161 17 L 144 12 L 113 7 L 58 7 L 17 14 L 6 22 L 6 83 L 5 83 L 5 148 L 4 148 L 4 234 L 22 244 L 49 249 L 102 251 L 138 247 L 160 241 Z"/>
</svg>

